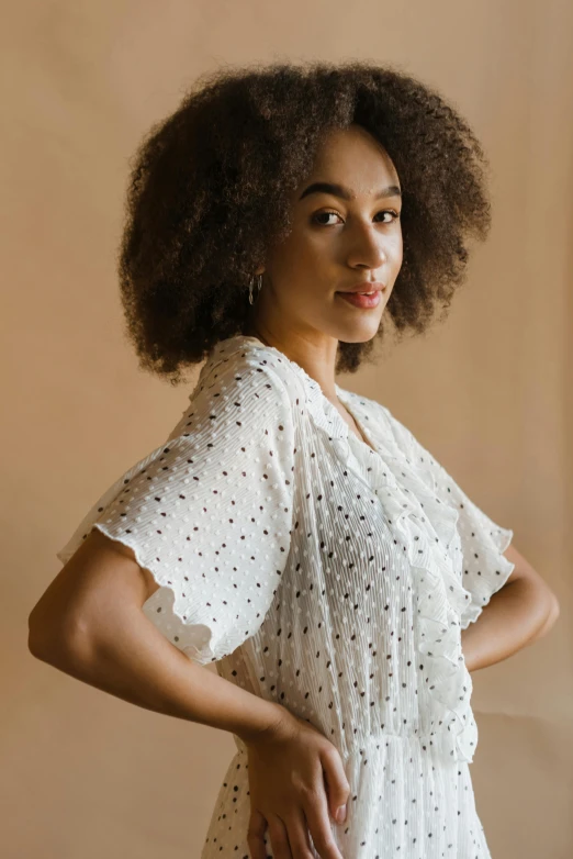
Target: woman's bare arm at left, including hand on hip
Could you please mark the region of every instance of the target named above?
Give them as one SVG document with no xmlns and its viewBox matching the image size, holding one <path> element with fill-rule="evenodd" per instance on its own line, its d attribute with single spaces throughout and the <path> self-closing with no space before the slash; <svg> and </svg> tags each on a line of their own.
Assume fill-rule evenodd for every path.
<svg viewBox="0 0 573 859">
<path fill-rule="evenodd" d="M 90 532 L 32 610 L 29 648 L 96 689 L 165 715 L 229 730 L 248 750 L 248 845 L 265 859 L 268 827 L 276 856 L 342 859 L 328 813 L 349 785 L 338 750 L 286 707 L 203 670 L 145 616 L 157 588 L 131 549 Z"/>
</svg>

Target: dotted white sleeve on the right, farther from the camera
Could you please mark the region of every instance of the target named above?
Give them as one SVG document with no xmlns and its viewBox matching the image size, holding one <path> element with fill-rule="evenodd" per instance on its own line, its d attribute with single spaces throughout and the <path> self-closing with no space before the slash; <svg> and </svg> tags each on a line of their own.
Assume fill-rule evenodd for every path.
<svg viewBox="0 0 573 859">
<path fill-rule="evenodd" d="M 515 567 L 503 555 L 512 543 L 514 532 L 490 518 L 414 434 L 385 406 L 384 411 L 397 444 L 428 489 L 458 514 L 458 538 L 450 548 L 461 583 L 471 596 L 460 615 L 461 628 L 467 629 L 479 618 L 493 594 L 507 582 Z"/>
</svg>

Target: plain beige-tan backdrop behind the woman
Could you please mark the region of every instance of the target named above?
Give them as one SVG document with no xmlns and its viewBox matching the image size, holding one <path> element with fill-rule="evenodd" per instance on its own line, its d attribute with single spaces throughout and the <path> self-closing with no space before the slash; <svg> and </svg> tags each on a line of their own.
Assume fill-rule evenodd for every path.
<svg viewBox="0 0 573 859">
<path fill-rule="evenodd" d="M 386 403 L 559 596 L 541 642 L 472 674 L 494 859 L 573 852 L 573 7 L 569 0 L 11 5 L 2 40 L 5 271 L 0 807 L 7 859 L 198 857 L 232 736 L 35 660 L 55 553 L 192 390 L 142 373 L 114 254 L 127 158 L 223 63 L 368 58 L 435 85 L 492 164 L 493 228 L 448 320 L 338 381 Z M 439 404 L 437 408 L 436 404 Z M 214 670 L 210 667 L 205 670 Z"/>
</svg>

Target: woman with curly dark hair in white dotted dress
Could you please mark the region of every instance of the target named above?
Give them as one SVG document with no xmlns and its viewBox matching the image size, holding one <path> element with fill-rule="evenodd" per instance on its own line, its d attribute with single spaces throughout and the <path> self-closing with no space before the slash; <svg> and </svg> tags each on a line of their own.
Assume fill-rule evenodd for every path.
<svg viewBox="0 0 573 859">
<path fill-rule="evenodd" d="M 487 233 L 484 161 L 438 93 L 360 63 L 202 79 L 138 152 L 128 330 L 175 383 L 206 362 L 58 553 L 30 647 L 233 733 L 203 859 L 490 856 L 470 670 L 557 601 L 386 406 L 335 382 L 385 321 L 422 333 L 448 305 Z"/>
</svg>

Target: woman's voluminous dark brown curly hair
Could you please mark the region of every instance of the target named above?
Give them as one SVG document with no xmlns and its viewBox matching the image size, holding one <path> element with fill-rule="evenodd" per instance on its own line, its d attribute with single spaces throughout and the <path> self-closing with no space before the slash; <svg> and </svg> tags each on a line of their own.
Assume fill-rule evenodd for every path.
<svg viewBox="0 0 573 859">
<path fill-rule="evenodd" d="M 459 112 L 396 66 L 227 66 L 198 78 L 130 163 L 117 265 L 143 369 L 178 384 L 245 332 L 250 278 L 290 228 L 289 194 L 325 134 L 352 123 L 383 145 L 402 186 L 403 263 L 384 320 L 422 333 L 449 308 L 467 237 L 484 241 L 491 221 L 487 160 Z M 383 333 L 339 342 L 336 372 L 356 372 Z"/>
</svg>

